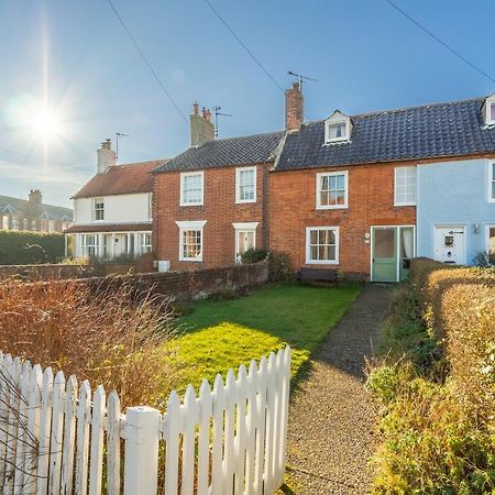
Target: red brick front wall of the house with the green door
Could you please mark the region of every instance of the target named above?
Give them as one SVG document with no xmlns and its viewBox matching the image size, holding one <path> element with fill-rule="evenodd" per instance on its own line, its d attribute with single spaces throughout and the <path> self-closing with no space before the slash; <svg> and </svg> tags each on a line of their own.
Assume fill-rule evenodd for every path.
<svg viewBox="0 0 495 495">
<path fill-rule="evenodd" d="M 413 165 L 413 164 L 411 164 Z M 404 164 L 351 165 L 270 175 L 270 249 L 290 255 L 294 270 L 306 265 L 306 228 L 339 227 L 339 264 L 346 274 L 370 274 L 372 226 L 414 226 L 415 207 L 394 207 L 394 168 Z M 319 210 L 317 174 L 348 170 L 348 208 Z"/>
</svg>

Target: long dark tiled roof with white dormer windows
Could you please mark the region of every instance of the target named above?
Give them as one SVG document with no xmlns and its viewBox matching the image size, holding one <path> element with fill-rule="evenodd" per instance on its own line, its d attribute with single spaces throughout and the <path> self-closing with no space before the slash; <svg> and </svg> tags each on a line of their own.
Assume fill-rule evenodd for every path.
<svg viewBox="0 0 495 495">
<path fill-rule="evenodd" d="M 277 170 L 495 152 L 485 98 L 350 116 L 351 142 L 324 145 L 324 121 L 289 132 Z"/>
</svg>

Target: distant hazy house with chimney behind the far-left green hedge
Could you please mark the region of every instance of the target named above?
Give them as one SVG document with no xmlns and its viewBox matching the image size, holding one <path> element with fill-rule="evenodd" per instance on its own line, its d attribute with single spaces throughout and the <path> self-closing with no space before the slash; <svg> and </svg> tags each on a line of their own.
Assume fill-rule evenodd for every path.
<svg viewBox="0 0 495 495">
<path fill-rule="evenodd" d="M 62 233 L 72 221 L 70 208 L 44 204 L 38 189 L 28 200 L 0 195 L 0 230 Z"/>
</svg>

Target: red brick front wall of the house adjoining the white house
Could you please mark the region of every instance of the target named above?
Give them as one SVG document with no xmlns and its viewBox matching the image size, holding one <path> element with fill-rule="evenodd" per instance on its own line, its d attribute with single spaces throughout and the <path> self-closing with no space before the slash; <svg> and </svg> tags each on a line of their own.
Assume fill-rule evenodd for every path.
<svg viewBox="0 0 495 495">
<path fill-rule="evenodd" d="M 245 166 L 252 166 L 248 164 Z M 157 260 L 169 261 L 170 270 L 190 271 L 232 265 L 235 262 L 237 222 L 257 222 L 256 246 L 267 246 L 266 195 L 268 168 L 256 165 L 256 201 L 235 202 L 235 168 L 229 166 L 204 170 L 204 205 L 182 207 L 180 172 L 155 175 L 153 232 Z M 179 261 L 179 228 L 176 221 L 207 221 L 204 227 L 202 262 Z"/>
</svg>

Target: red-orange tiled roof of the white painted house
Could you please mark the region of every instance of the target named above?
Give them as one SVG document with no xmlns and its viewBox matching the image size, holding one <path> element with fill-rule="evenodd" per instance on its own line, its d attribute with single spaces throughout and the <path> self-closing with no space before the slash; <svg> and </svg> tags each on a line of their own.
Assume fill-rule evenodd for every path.
<svg viewBox="0 0 495 495">
<path fill-rule="evenodd" d="M 95 175 L 73 198 L 152 193 L 151 172 L 164 162 L 166 160 L 112 165 L 105 174 Z"/>
</svg>

